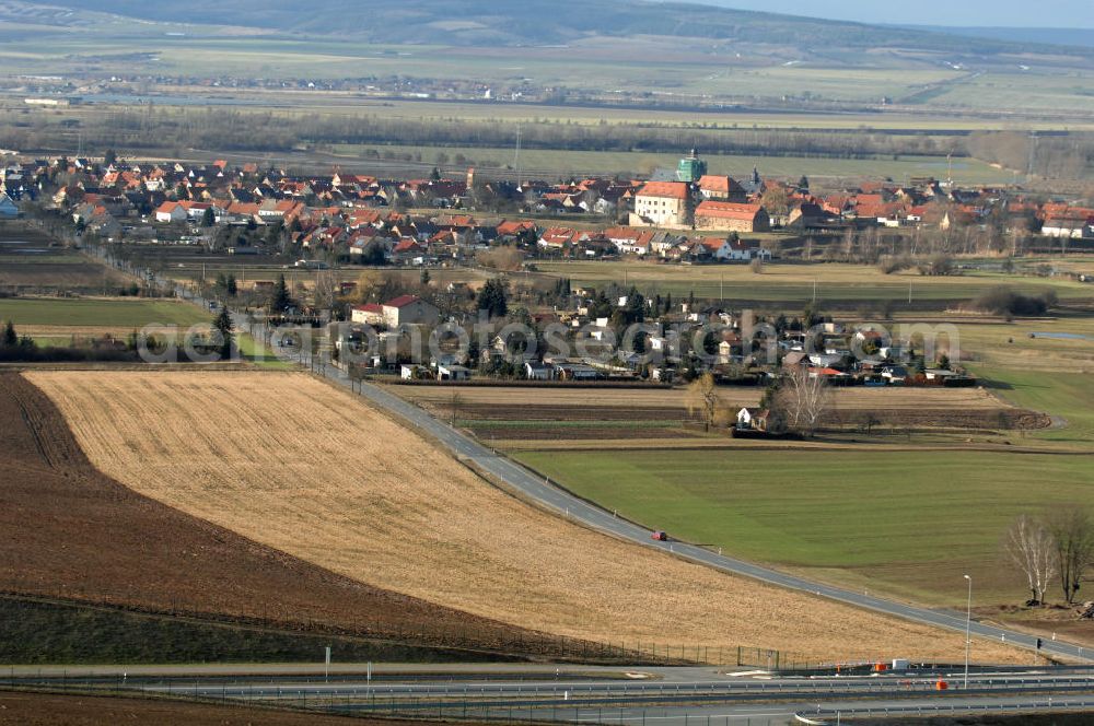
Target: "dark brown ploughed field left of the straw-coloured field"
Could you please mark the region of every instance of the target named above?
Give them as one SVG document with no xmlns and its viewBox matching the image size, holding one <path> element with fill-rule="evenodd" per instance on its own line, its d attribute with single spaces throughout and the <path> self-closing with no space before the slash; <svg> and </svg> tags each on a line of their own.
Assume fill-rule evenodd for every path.
<svg viewBox="0 0 1094 726">
<path fill-rule="evenodd" d="M 91 375 L 86 385 L 95 385 Z M 146 441 L 161 456 L 168 452 Z M 91 466 L 53 402 L 18 374 L 0 374 L 0 590 L 290 629 L 412 631 L 431 644 L 462 639 L 509 649 L 527 637 L 337 575 L 135 493 Z"/>
</svg>

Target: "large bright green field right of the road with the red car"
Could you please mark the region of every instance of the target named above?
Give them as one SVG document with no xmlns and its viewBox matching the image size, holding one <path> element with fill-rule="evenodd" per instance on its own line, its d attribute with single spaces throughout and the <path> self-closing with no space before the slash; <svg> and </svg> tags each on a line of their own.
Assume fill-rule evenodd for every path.
<svg viewBox="0 0 1094 726">
<path fill-rule="evenodd" d="M 1017 604 L 1015 516 L 1094 504 L 1089 456 L 987 452 L 587 452 L 519 458 L 620 516 L 747 560 L 956 604 Z M 1034 485 L 1036 484 L 1036 485 Z"/>
</svg>

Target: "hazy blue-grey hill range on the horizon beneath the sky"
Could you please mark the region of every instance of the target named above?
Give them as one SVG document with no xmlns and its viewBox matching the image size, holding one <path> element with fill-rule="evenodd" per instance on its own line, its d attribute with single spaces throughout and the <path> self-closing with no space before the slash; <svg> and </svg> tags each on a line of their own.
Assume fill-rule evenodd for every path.
<svg viewBox="0 0 1094 726">
<path fill-rule="evenodd" d="M 956 40 L 946 33 L 881 28 L 680 2 L 597 0 L 55 0 L 54 4 L 142 20 L 211 23 L 368 42 L 443 45 L 560 45 L 637 35 L 798 47 L 898 47 L 951 52 L 1016 50 L 1009 39 Z"/>
</svg>

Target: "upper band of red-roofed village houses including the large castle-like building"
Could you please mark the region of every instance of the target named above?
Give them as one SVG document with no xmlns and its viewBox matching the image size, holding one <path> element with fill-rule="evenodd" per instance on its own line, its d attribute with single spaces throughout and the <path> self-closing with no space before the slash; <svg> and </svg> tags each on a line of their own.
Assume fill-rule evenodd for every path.
<svg viewBox="0 0 1094 726">
<path fill-rule="evenodd" d="M 224 161 L 124 162 L 112 152 L 9 164 L 0 216 L 20 207 L 51 210 L 70 215 L 81 233 L 116 243 L 396 266 L 467 262 L 496 247 L 517 249 L 522 259 L 748 262 L 777 256 L 780 234 L 823 239 L 872 229 L 948 232 L 951 245 L 1006 254 L 1046 241 L 1066 251 L 1071 241 L 1094 239 L 1094 209 L 1019 189 L 934 178 L 815 189 L 804 176 L 765 179 L 758 169 L 741 179 L 711 175 L 695 150 L 659 176 L 516 183 L 479 180 L 468 169 L 464 179 L 394 180 Z M 251 234 L 232 234 L 241 229 Z M 992 239 L 973 239 L 989 229 Z"/>
</svg>

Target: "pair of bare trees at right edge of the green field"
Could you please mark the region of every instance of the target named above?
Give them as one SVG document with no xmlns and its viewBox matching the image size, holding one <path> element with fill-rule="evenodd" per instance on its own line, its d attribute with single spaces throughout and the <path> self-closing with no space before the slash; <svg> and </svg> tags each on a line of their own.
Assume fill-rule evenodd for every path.
<svg viewBox="0 0 1094 726">
<path fill-rule="evenodd" d="M 1094 566 L 1094 519 L 1079 506 L 1061 506 L 1043 516 L 1023 514 L 1006 530 L 1003 551 L 1026 578 L 1029 600 L 1040 605 L 1056 581 L 1072 605 Z"/>
</svg>

